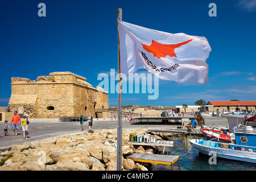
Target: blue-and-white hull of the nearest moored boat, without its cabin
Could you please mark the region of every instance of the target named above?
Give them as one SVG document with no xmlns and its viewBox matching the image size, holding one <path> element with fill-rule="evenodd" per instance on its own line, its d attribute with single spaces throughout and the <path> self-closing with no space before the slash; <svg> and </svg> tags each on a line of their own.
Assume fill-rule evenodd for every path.
<svg viewBox="0 0 256 182">
<path fill-rule="evenodd" d="M 200 143 L 199 141 L 205 141 L 205 142 Z M 197 151 L 205 155 L 216 154 L 217 158 L 238 160 L 242 162 L 256 164 L 256 152 L 233 150 L 228 148 L 219 148 L 219 147 L 216 147 L 216 144 L 221 144 L 221 143 L 209 142 L 207 140 L 192 139 L 192 140 L 189 140 L 189 142 L 193 144 L 193 147 L 195 147 Z M 230 147 L 232 146 L 236 147 L 236 145 L 230 144 Z"/>
</svg>

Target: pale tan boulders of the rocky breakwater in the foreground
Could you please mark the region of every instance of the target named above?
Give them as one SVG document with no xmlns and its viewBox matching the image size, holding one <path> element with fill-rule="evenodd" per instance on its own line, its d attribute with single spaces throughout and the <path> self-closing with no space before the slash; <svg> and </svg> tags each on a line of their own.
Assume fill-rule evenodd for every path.
<svg viewBox="0 0 256 182">
<path fill-rule="evenodd" d="M 152 147 L 125 144 L 130 133 L 147 135 L 146 130 L 123 130 L 122 169 L 146 171 L 147 168 L 126 156 L 134 152 L 154 152 Z M 26 142 L 1 152 L 0 171 L 115 171 L 117 167 L 117 131 L 101 130 Z"/>
</svg>

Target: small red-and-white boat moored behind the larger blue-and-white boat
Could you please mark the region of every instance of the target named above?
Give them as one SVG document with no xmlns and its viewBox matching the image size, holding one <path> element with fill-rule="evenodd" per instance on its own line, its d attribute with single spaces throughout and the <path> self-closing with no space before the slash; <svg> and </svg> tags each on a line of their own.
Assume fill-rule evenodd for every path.
<svg viewBox="0 0 256 182">
<path fill-rule="evenodd" d="M 232 140 L 235 139 L 234 133 L 229 133 L 228 131 L 217 127 L 204 126 L 200 130 L 206 140 L 212 140 L 213 142 L 219 141 L 224 143 L 230 143 Z"/>
</svg>

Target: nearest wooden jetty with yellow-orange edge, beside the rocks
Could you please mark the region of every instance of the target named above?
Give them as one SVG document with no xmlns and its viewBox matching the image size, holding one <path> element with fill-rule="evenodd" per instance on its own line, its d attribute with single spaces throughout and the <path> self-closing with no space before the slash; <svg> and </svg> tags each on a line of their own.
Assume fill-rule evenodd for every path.
<svg viewBox="0 0 256 182">
<path fill-rule="evenodd" d="M 171 169 L 173 170 L 174 163 L 177 162 L 177 169 L 180 171 L 180 163 L 179 156 L 176 155 L 160 155 L 160 154 L 141 154 L 135 153 L 133 155 L 129 155 L 126 157 L 127 159 L 131 159 L 136 162 L 144 162 L 144 163 L 156 163 L 156 164 L 167 164 L 171 165 Z"/>
</svg>

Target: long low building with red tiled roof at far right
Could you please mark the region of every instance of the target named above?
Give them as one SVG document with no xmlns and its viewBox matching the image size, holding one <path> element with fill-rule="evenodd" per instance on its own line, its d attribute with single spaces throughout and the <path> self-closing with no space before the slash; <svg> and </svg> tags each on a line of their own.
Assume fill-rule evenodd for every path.
<svg viewBox="0 0 256 182">
<path fill-rule="evenodd" d="M 221 112 L 222 110 L 233 111 L 233 110 L 248 110 L 255 111 L 256 110 L 256 101 L 209 101 L 207 103 L 209 105 L 209 111 L 217 111 L 217 109 Z"/>
</svg>

